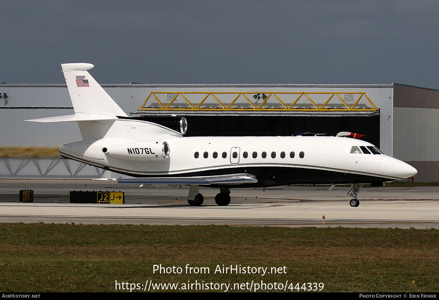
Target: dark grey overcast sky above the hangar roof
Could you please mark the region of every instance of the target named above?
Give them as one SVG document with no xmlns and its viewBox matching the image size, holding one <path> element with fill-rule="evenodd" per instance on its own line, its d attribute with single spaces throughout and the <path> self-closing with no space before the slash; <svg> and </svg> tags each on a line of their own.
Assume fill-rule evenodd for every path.
<svg viewBox="0 0 439 300">
<path fill-rule="evenodd" d="M 439 1 L 3 1 L 0 82 L 392 83 L 439 89 Z"/>
</svg>

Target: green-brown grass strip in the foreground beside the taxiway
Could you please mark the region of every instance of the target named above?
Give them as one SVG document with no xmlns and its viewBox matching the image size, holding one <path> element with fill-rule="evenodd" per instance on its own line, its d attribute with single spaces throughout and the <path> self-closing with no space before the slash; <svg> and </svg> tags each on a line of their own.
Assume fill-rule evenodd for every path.
<svg viewBox="0 0 439 300">
<path fill-rule="evenodd" d="M 275 290 L 274 282 L 277 289 L 282 283 L 293 292 L 314 289 L 308 282 L 322 283 L 324 292 L 439 290 L 435 229 L 0 223 L 0 236 L 3 292 L 114 292 L 115 281 L 139 283 L 133 292 L 150 281 L 153 287 L 162 282 L 189 289 L 196 280 L 230 283 L 228 291 L 236 291 L 236 284 L 247 290 L 250 282 L 261 280 L 271 283 L 272 289 L 265 286 L 269 291 Z M 181 274 L 153 273 L 160 264 L 181 267 L 174 268 Z M 209 267 L 209 274 L 193 274 L 197 269 L 186 274 L 187 264 Z M 267 268 L 267 273 L 215 273 L 223 264 Z M 271 268 L 281 274 L 269 274 Z M 133 288 L 119 287 L 124 292 Z"/>
</svg>

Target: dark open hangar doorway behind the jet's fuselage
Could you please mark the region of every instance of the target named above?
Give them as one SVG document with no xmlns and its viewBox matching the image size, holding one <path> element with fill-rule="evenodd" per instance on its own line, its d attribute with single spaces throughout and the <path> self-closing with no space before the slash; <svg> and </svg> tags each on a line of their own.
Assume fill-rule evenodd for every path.
<svg viewBox="0 0 439 300">
<path fill-rule="evenodd" d="M 181 114 L 180 114 L 181 115 Z M 335 136 L 347 131 L 380 146 L 380 118 L 374 116 L 203 116 L 186 115 L 185 136 L 291 136 L 305 131 Z"/>
</svg>

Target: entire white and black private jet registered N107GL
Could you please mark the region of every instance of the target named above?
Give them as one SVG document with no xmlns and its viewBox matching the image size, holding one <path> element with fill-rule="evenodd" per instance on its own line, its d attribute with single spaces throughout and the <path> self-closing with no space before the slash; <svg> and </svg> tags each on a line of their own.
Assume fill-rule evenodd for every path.
<svg viewBox="0 0 439 300">
<path fill-rule="evenodd" d="M 191 205 L 203 203 L 198 186 L 219 188 L 216 204 L 228 205 L 233 187 L 352 184 L 357 207 L 359 184 L 417 173 L 370 143 L 340 136 L 184 137 L 185 118 L 128 116 L 89 74 L 93 64 L 61 66 L 75 114 L 27 121 L 78 122 L 83 140 L 61 146 L 62 157 L 134 177 L 113 179 L 119 183 L 189 185 Z"/>
</svg>

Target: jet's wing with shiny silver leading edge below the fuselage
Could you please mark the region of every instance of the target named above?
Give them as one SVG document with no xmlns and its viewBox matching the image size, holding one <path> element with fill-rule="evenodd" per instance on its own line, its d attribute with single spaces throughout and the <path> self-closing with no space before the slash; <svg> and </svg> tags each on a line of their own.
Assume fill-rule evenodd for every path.
<svg viewBox="0 0 439 300">
<path fill-rule="evenodd" d="M 97 180 L 117 180 L 118 183 L 140 183 L 140 184 L 241 184 L 256 183 L 255 175 L 252 174 L 228 174 L 214 176 L 196 177 L 144 177 L 144 178 L 99 178 Z"/>
</svg>

